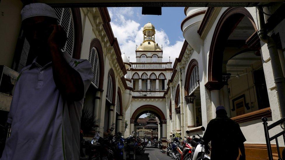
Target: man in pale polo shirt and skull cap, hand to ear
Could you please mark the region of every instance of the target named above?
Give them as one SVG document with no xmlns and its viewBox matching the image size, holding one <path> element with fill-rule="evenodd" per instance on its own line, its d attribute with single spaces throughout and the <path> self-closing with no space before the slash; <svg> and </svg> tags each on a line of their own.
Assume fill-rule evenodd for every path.
<svg viewBox="0 0 285 160">
<path fill-rule="evenodd" d="M 11 136 L 1 160 L 78 160 L 91 64 L 61 52 L 66 35 L 50 6 L 32 3 L 21 15 L 30 50 L 37 57 L 22 69 L 15 85 L 8 117 Z"/>
</svg>

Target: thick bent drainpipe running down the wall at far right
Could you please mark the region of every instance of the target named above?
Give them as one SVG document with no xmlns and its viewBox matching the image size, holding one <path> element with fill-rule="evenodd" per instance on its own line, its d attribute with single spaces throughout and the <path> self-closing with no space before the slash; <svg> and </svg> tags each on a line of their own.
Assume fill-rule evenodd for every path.
<svg viewBox="0 0 285 160">
<path fill-rule="evenodd" d="M 281 117 L 285 117 L 285 79 L 281 67 L 281 63 L 279 60 L 279 54 L 276 47 L 276 43 L 271 36 L 267 35 L 267 31 L 265 29 L 265 20 L 264 14 L 262 13 L 263 8 L 258 7 L 258 14 L 260 20 L 260 30 L 258 31 L 258 36 L 261 41 L 267 43 L 267 48 L 269 50 L 271 65 L 274 75 L 274 82 L 277 88 L 277 95 L 281 110 Z"/>
</svg>

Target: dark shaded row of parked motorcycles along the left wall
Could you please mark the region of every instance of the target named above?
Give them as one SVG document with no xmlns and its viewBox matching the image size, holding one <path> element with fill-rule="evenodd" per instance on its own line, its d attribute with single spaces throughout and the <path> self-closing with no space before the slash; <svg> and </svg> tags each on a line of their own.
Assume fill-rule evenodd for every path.
<svg viewBox="0 0 285 160">
<path fill-rule="evenodd" d="M 129 160 L 135 159 L 136 154 L 147 145 L 147 140 L 135 137 L 132 134 L 124 138 L 121 132 L 114 135 L 108 135 L 106 138 L 95 133 L 93 140 L 82 140 L 83 148 L 85 148 L 86 157 L 80 160 Z"/>
</svg>

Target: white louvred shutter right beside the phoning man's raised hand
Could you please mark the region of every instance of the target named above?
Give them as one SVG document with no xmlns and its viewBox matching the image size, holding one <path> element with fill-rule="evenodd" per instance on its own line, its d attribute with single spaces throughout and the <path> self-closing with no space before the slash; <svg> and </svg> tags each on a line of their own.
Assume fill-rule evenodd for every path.
<svg viewBox="0 0 285 160">
<path fill-rule="evenodd" d="M 58 17 L 58 24 L 64 28 L 67 35 L 67 41 L 61 50 L 62 52 L 67 51 L 72 57 L 74 44 L 74 24 L 72 11 L 70 8 L 53 8 L 53 10 Z"/>
</svg>

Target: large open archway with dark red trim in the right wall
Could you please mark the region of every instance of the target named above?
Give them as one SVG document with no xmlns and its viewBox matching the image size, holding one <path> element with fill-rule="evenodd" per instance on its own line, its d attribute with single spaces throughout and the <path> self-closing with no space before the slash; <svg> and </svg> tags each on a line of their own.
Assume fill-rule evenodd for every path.
<svg viewBox="0 0 285 160">
<path fill-rule="evenodd" d="M 225 10 L 213 34 L 205 84 L 211 91 L 212 118 L 219 105 L 225 106 L 229 117 L 269 107 L 260 48 L 248 10 Z"/>
</svg>

